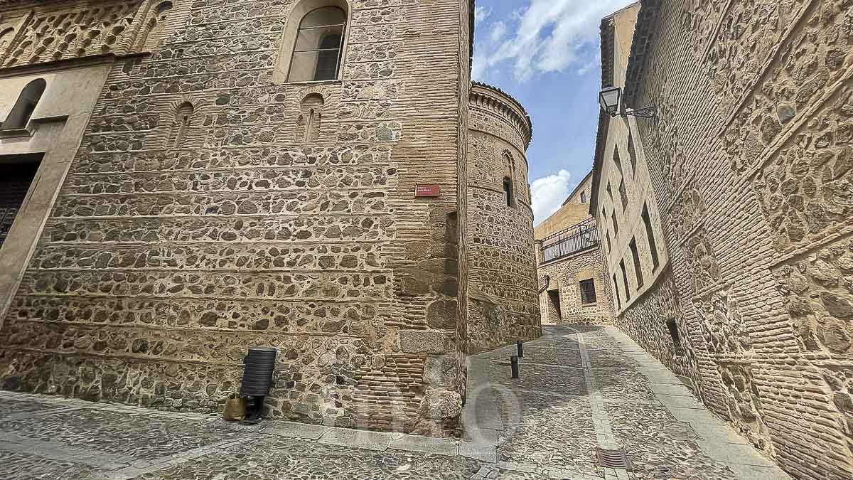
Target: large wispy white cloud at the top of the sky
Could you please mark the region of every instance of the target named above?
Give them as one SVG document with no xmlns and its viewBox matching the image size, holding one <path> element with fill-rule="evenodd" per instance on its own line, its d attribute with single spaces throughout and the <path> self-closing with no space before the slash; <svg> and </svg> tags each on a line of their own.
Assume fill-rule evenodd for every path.
<svg viewBox="0 0 853 480">
<path fill-rule="evenodd" d="M 633 0 L 530 0 L 511 18 L 514 31 L 496 38 L 490 31 L 485 44 L 476 45 L 479 62 L 475 71 L 487 75 L 502 62 L 512 64 L 519 81 L 537 73 L 589 69 L 598 53 L 601 19 L 632 3 Z M 480 9 L 480 7 L 478 7 Z M 485 9 L 485 7 L 483 7 Z M 489 10 L 489 14 L 491 10 Z M 481 16 L 480 22 L 489 15 Z M 494 22 L 503 23 L 502 21 Z M 507 26 L 502 28 L 506 30 Z"/>
</svg>

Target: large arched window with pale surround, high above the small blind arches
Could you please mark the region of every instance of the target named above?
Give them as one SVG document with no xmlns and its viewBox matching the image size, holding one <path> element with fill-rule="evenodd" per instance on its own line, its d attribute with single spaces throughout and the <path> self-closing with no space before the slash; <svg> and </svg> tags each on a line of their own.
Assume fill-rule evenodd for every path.
<svg viewBox="0 0 853 480">
<path fill-rule="evenodd" d="M 313 9 L 302 17 L 287 81 L 337 79 L 345 26 L 346 12 L 338 7 Z"/>
</svg>

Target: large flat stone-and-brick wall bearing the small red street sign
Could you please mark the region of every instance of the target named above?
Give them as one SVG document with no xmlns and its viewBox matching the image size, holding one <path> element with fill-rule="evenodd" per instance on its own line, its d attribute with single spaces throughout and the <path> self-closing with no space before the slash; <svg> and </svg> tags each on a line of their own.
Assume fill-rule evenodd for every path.
<svg viewBox="0 0 853 480">
<path fill-rule="evenodd" d="M 0 2 L 3 389 L 214 411 L 272 345 L 271 417 L 452 432 L 472 30 L 468 0 Z M 529 120 L 495 128 L 523 161 Z"/>
</svg>

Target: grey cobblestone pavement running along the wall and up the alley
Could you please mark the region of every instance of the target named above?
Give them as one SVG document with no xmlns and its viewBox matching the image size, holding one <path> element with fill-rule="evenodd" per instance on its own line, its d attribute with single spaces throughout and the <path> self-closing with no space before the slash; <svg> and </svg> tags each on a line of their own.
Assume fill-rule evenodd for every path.
<svg viewBox="0 0 853 480">
<path fill-rule="evenodd" d="M 0 392 L 0 478 L 787 478 L 621 332 L 544 330 L 471 359 L 460 440 Z"/>
</svg>

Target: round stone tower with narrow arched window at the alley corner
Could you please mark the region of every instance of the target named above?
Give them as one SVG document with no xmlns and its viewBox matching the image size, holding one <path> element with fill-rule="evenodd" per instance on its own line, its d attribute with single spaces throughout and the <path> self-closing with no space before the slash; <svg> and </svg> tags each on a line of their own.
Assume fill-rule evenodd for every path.
<svg viewBox="0 0 853 480">
<path fill-rule="evenodd" d="M 468 351 L 541 334 L 527 157 L 531 119 L 513 97 L 474 83 L 467 155 Z"/>
</svg>

